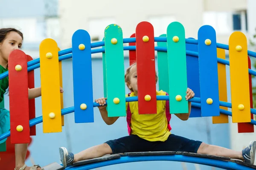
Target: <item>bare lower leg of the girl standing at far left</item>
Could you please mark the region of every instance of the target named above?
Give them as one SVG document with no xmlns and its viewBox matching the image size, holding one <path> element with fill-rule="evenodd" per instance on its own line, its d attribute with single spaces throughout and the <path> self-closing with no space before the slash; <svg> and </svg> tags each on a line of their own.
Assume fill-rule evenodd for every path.
<svg viewBox="0 0 256 170">
<path fill-rule="evenodd" d="M 21 167 L 25 164 L 26 152 L 28 149 L 28 144 L 15 144 L 15 169 L 20 170 Z M 25 170 L 29 170 L 29 167 L 26 167 Z M 41 170 L 41 168 L 37 168 Z"/>
</svg>

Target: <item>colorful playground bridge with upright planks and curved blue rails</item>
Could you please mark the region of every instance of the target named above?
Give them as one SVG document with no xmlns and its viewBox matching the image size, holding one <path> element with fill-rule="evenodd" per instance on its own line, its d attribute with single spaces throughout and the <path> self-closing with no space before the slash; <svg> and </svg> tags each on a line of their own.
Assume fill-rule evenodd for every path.
<svg viewBox="0 0 256 170">
<path fill-rule="evenodd" d="M 157 42 L 156 47 L 154 42 Z M 129 43 L 129 46 L 123 43 Z M 125 98 L 124 50 L 129 50 L 130 65 L 137 62 L 140 93 L 136 97 Z M 169 96 L 156 96 L 155 93 L 155 50 L 159 89 L 168 92 Z M 229 50 L 230 62 L 225 60 L 224 50 Z M 215 30 L 211 26 L 202 26 L 198 30 L 198 40 L 185 39 L 182 24 L 173 22 L 169 24 L 166 34 L 154 37 L 153 26 L 141 22 L 137 25 L 136 33 L 128 39 L 123 39 L 122 29 L 116 24 L 106 27 L 102 42 L 91 43 L 87 31 L 77 30 L 72 37 L 72 48 L 62 51 L 54 40 L 45 39 L 40 45 L 40 59 L 32 60 L 20 50 L 13 51 L 9 56 L 9 72 L 0 74 L 0 79 L 9 76 L 11 115 L 11 130 L 2 134 L 0 140 L 11 136 L 12 143 L 29 143 L 30 136 L 35 135 L 35 125 L 41 122 L 44 133 L 61 132 L 63 115 L 72 112 L 76 123 L 93 122 L 93 107 L 99 105 L 92 102 L 91 54 L 99 52 L 103 60 L 108 116 L 126 116 L 125 102 L 132 101 L 138 101 L 139 114 L 154 114 L 157 112 L 157 100 L 169 101 L 171 114 L 187 113 L 185 92 L 189 87 L 195 92 L 195 97 L 189 100 L 192 102 L 190 117 L 212 116 L 213 123 L 228 123 L 228 116 L 232 116 L 232 122 L 238 123 L 239 133 L 254 132 L 256 121 L 253 120 L 253 114 L 256 114 L 256 110 L 252 103 L 251 75 L 256 75 L 256 72 L 250 69 L 248 56 L 256 57 L 256 53 L 247 51 L 244 34 L 234 32 L 229 45 L 223 45 L 216 42 Z M 59 91 L 62 86 L 61 60 L 68 58 L 73 59 L 74 107 L 63 108 L 63 96 Z M 226 65 L 230 65 L 232 104 L 227 102 Z M 35 100 L 28 99 L 28 88 L 34 87 L 32 71 L 39 67 L 42 116 L 35 118 Z M 227 108 L 232 108 L 232 113 Z M 220 156 L 149 152 L 114 154 L 80 161 L 66 169 L 84 170 L 125 162 L 157 160 L 192 162 L 224 169 L 256 168 Z M 59 164 L 56 167 L 64 168 Z"/>
</svg>

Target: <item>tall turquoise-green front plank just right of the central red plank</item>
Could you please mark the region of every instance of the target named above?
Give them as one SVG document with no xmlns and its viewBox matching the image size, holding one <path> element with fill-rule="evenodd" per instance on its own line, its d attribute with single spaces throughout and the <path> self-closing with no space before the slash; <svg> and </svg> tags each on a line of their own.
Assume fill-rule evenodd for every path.
<svg viewBox="0 0 256 170">
<path fill-rule="evenodd" d="M 185 29 L 179 22 L 172 22 L 167 27 L 167 54 L 169 66 L 169 102 L 170 113 L 188 113 L 186 100 L 186 42 Z"/>
</svg>

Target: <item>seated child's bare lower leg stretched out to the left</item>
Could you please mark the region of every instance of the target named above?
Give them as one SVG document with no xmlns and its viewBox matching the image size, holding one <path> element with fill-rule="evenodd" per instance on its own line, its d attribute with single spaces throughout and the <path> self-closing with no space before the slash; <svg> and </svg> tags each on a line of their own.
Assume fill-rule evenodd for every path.
<svg viewBox="0 0 256 170">
<path fill-rule="evenodd" d="M 112 150 L 108 144 L 106 143 L 99 144 L 75 154 L 73 162 L 84 160 L 84 159 L 98 158 L 103 155 L 111 154 L 111 153 L 112 153 Z"/>
</svg>

